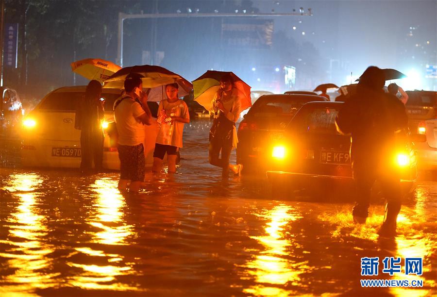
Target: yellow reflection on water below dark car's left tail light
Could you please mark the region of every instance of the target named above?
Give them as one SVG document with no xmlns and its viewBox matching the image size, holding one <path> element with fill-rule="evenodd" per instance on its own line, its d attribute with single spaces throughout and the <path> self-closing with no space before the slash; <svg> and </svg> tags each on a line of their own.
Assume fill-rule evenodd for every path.
<svg viewBox="0 0 437 297">
<path fill-rule="evenodd" d="M 285 226 L 300 216 L 291 214 L 292 208 L 278 205 L 269 211 L 265 217 L 270 220 L 265 228 L 267 235 L 251 236 L 266 249 L 244 267 L 250 268 L 248 273 L 255 277 L 258 283 L 243 290 L 246 294 L 255 296 L 287 296 L 290 292 L 272 285 L 284 285 L 287 282 L 299 284 L 299 274 L 302 272 L 299 264 L 285 259 L 286 248 L 291 245 L 289 240 L 283 239 Z"/>
</svg>

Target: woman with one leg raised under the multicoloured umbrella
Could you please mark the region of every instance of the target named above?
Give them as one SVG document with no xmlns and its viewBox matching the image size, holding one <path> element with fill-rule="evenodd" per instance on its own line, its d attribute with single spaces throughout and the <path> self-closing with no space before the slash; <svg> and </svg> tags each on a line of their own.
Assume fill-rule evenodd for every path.
<svg viewBox="0 0 437 297">
<path fill-rule="evenodd" d="M 224 75 L 220 79 L 220 87 L 214 95 L 210 108 L 214 115 L 214 122 L 209 132 L 209 163 L 221 167 L 223 177 L 228 176 L 229 169 L 239 175 L 243 168 L 241 164 L 229 164 L 232 148 L 236 147 L 238 142 L 235 122 L 241 112 L 241 102 L 232 81 L 230 75 Z"/>
</svg>

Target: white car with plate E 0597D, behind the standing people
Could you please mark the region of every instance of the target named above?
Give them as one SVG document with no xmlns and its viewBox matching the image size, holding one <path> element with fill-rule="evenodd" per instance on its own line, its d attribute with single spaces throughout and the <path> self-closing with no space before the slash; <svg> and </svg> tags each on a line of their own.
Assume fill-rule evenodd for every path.
<svg viewBox="0 0 437 297">
<path fill-rule="evenodd" d="M 67 86 L 46 95 L 27 115 L 21 131 L 21 164 L 23 166 L 79 168 L 81 164 L 81 131 L 74 128 L 77 101 L 84 96 L 86 86 Z M 121 89 L 103 89 L 105 99 L 105 132 L 103 148 L 103 168 L 119 170 L 120 164 L 111 129 L 114 129 L 113 105 L 120 96 Z M 153 112 L 157 112 L 157 102 L 148 102 Z M 153 163 L 158 126 L 152 120 L 146 126 L 144 154 L 146 166 Z"/>
</svg>

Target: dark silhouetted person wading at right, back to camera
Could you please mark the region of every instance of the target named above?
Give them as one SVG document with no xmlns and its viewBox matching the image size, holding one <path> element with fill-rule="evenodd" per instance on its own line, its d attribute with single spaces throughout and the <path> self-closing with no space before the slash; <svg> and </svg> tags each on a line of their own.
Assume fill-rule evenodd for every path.
<svg viewBox="0 0 437 297">
<path fill-rule="evenodd" d="M 370 66 L 360 77 L 356 92 L 337 115 L 337 130 L 351 134 L 351 159 L 356 203 L 355 222 L 364 223 L 369 215 L 370 189 L 376 180 L 387 199 L 386 215 L 380 235 L 396 234 L 401 210 L 399 170 L 394 162 L 397 149 L 404 144 L 407 115 L 403 103 L 383 90 L 384 73 Z"/>
</svg>

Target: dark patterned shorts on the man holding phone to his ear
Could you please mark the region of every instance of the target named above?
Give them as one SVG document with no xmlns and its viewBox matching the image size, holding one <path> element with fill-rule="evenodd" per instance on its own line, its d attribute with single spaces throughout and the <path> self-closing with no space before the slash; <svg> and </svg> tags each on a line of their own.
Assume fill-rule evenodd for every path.
<svg viewBox="0 0 437 297">
<path fill-rule="evenodd" d="M 142 143 L 136 146 L 118 145 L 120 180 L 144 181 L 146 159 Z"/>
</svg>

